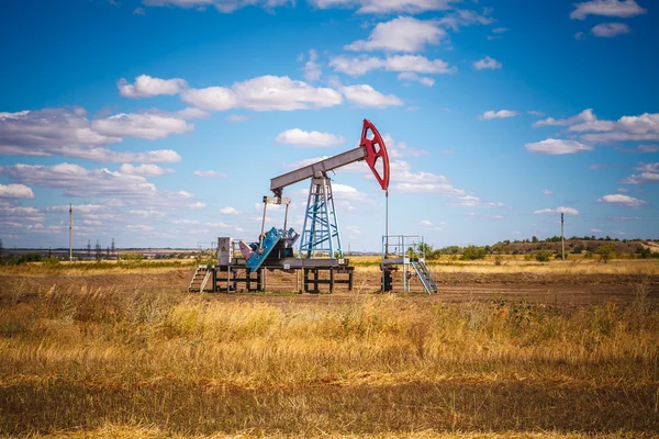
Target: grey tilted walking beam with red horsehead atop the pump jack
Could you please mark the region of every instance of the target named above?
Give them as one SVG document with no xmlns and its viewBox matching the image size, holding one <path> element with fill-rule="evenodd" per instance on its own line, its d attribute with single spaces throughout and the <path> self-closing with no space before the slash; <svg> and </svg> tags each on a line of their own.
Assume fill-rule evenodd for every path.
<svg viewBox="0 0 659 439">
<path fill-rule="evenodd" d="M 372 133 L 372 136 L 369 135 L 369 131 Z M 387 190 L 387 188 L 389 188 L 389 156 L 387 155 L 384 140 L 382 140 L 380 133 L 378 133 L 378 130 L 376 130 L 375 125 L 367 119 L 364 120 L 361 142 L 359 145 L 359 147 L 350 149 L 349 151 L 326 158 L 300 169 L 295 169 L 294 171 L 284 173 L 282 176 L 275 177 L 270 180 L 270 190 L 272 193 L 275 193 L 275 196 L 281 196 L 281 192 L 287 185 L 312 178 L 316 172 L 325 173 L 333 169 L 337 169 L 342 166 L 350 165 L 359 160 L 366 160 L 368 166 L 373 171 L 376 179 L 380 183 L 380 187 L 383 190 Z M 382 160 L 383 175 L 380 175 L 376 168 L 378 159 Z"/>
</svg>

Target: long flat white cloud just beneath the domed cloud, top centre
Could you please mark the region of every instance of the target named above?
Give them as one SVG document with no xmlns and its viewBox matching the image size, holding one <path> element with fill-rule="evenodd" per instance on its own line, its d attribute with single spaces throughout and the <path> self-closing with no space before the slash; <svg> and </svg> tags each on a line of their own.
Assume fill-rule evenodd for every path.
<svg viewBox="0 0 659 439">
<path fill-rule="evenodd" d="M 395 55 L 387 58 L 358 56 L 336 56 L 330 60 L 336 71 L 350 76 L 365 75 L 371 70 L 387 70 L 415 74 L 455 74 L 456 67 L 449 67 L 442 59 L 428 59 L 421 55 Z"/>
</svg>

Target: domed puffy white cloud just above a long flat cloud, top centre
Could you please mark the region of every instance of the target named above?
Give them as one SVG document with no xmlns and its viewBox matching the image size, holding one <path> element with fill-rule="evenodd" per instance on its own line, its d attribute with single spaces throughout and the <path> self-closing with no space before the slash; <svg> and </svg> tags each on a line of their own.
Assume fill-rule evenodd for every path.
<svg viewBox="0 0 659 439">
<path fill-rule="evenodd" d="M 399 16 L 378 23 L 368 40 L 359 40 L 346 45 L 346 50 L 371 52 L 421 52 L 428 44 L 437 45 L 446 36 L 446 31 L 437 21 Z"/>
</svg>

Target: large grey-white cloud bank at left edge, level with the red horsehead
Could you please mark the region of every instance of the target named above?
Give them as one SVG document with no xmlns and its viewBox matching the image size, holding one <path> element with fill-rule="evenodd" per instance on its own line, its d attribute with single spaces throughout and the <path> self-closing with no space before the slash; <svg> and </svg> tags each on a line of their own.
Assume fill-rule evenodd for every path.
<svg viewBox="0 0 659 439">
<path fill-rule="evenodd" d="M 0 113 L 0 153 L 64 156 L 94 161 L 180 161 L 174 150 L 113 151 L 123 137 L 164 138 L 193 128 L 182 119 L 155 114 L 118 114 L 89 121 L 80 108 Z"/>
</svg>

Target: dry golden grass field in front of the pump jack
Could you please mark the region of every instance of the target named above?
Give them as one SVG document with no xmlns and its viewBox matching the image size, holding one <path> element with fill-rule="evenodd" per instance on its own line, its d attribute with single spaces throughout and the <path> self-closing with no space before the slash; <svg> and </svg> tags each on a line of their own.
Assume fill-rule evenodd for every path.
<svg viewBox="0 0 659 439">
<path fill-rule="evenodd" d="M 185 268 L 157 266 L 131 269 L 148 271 L 148 284 L 119 268 L 91 272 L 109 283 L 82 285 L 75 267 L 2 272 L 11 282 L 0 290 L 0 434 L 659 434 L 657 261 L 485 262 L 438 269 L 569 279 L 585 267 L 593 282 L 632 281 L 621 303 L 566 307 L 495 294 L 242 301 L 186 293 L 171 272 Z"/>
</svg>

